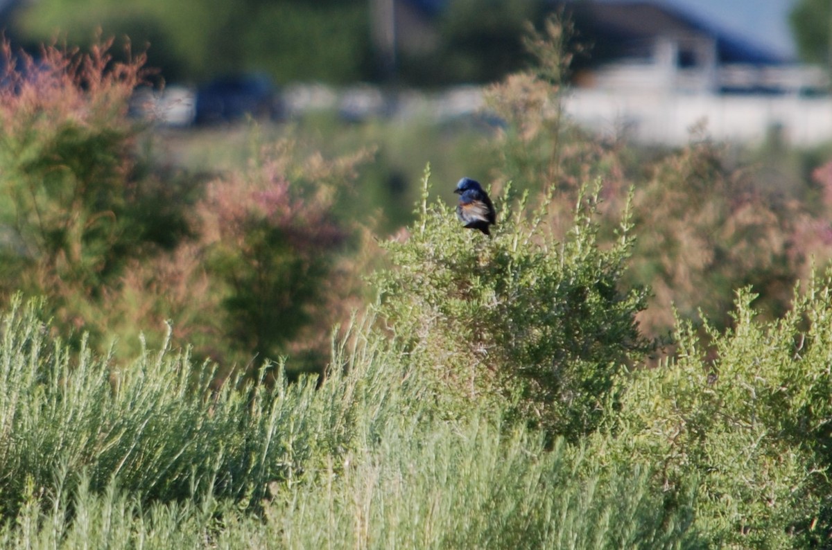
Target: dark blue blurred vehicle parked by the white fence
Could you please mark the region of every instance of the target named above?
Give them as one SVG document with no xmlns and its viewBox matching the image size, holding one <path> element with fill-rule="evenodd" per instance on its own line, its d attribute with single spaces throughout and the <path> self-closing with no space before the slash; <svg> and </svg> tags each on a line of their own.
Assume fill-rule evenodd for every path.
<svg viewBox="0 0 832 550">
<path fill-rule="evenodd" d="M 196 91 L 196 124 L 240 120 L 279 120 L 283 115 L 275 86 L 267 76 L 223 76 Z"/>
</svg>

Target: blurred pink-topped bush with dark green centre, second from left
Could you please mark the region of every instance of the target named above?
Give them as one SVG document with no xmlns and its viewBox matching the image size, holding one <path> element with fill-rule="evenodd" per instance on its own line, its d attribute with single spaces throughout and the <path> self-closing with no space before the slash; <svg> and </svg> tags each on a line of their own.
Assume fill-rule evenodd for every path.
<svg viewBox="0 0 832 550">
<path fill-rule="evenodd" d="M 161 345 L 166 321 L 196 357 L 256 377 L 291 356 L 293 371 L 323 371 L 329 333 L 349 319 L 359 292 L 358 233 L 339 219 L 359 152 L 326 159 L 292 140 L 258 147 L 245 169 L 218 174 L 188 205 L 191 237 L 130 263 L 92 319 L 120 335 L 119 356 L 139 336 Z"/>
</svg>

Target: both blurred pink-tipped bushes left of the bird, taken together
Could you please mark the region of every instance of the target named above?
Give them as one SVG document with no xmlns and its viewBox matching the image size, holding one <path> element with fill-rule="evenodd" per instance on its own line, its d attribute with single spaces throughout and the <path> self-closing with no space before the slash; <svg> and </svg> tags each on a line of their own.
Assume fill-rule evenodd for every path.
<svg viewBox="0 0 832 550">
<path fill-rule="evenodd" d="M 240 173 L 156 169 L 146 123 L 127 115 L 145 58 L 114 61 L 110 45 L 46 47 L 36 62 L 5 44 L 0 301 L 47 296 L 76 344 L 86 331 L 106 353 L 116 331 L 119 358 L 139 336 L 161 345 L 171 322 L 196 356 L 229 366 L 280 356 L 319 323 L 295 351 L 320 370 L 353 280 L 334 201 L 368 155 L 327 160 L 283 141 Z"/>
</svg>

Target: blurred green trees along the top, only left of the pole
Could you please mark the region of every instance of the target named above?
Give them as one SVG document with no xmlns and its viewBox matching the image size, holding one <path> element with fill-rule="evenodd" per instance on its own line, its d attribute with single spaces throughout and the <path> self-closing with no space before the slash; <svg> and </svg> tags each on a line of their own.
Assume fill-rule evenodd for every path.
<svg viewBox="0 0 832 550">
<path fill-rule="evenodd" d="M 149 64 L 169 80 L 265 70 L 278 82 L 344 82 L 369 66 L 367 9 L 364 0 L 43 0 L 16 22 L 29 42 L 87 44 L 101 28 L 149 43 Z"/>
</svg>

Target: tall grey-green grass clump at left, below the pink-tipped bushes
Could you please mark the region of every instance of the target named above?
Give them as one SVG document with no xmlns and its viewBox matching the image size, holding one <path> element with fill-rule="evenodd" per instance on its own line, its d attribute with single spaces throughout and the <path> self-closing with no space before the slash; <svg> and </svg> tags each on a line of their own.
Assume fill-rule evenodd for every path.
<svg viewBox="0 0 832 550">
<path fill-rule="evenodd" d="M 266 484 L 295 479 L 311 457 L 347 449 L 354 437 L 346 419 L 363 398 L 357 371 L 314 393 L 306 380 L 217 388 L 210 371 L 192 374 L 186 352 L 166 349 L 116 368 L 48 336 L 39 307 L 18 298 L 2 320 L 4 513 L 17 510 L 27 484 L 53 492 L 57 472 L 85 474 L 93 491 L 117 479 L 141 503 L 210 491 L 253 504 Z"/>
</svg>

